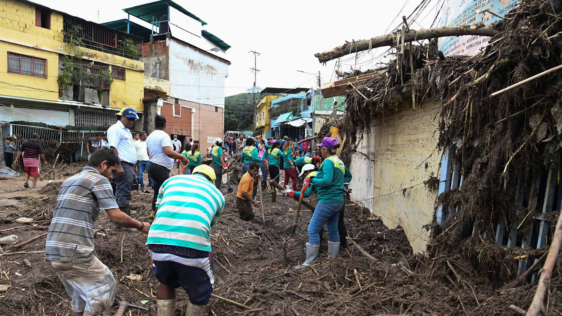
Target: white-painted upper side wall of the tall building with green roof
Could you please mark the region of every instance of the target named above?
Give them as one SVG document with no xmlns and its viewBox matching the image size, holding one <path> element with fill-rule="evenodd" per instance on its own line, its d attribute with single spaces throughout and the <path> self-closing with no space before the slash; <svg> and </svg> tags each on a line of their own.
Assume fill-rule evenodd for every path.
<svg viewBox="0 0 562 316">
<path fill-rule="evenodd" d="M 228 63 L 173 38 L 169 39 L 167 51 L 170 96 L 224 108 L 224 79 L 228 76 Z"/>
</svg>

